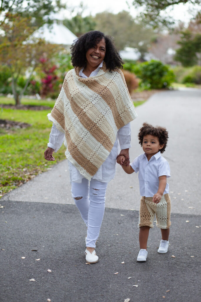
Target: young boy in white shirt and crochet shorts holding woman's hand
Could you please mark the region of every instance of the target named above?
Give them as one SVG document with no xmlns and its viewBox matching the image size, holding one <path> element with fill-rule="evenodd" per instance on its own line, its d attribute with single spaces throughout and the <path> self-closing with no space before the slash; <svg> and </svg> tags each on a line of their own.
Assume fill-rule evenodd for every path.
<svg viewBox="0 0 201 302">
<path fill-rule="evenodd" d="M 169 197 L 169 185 L 167 177 L 170 177 L 170 167 L 167 160 L 161 156 L 165 151 L 168 141 L 168 132 L 162 127 L 153 127 L 143 123 L 138 133 L 139 143 L 143 148 L 144 154 L 139 155 L 133 162 L 123 165 L 125 158 L 119 156 L 117 162 L 122 165 L 128 174 L 139 172 L 140 183 L 140 210 L 139 241 L 140 252 L 137 261 L 146 261 L 147 240 L 149 229 L 153 228 L 154 216 L 156 216 L 156 226 L 161 229 L 162 240 L 158 253 L 167 253 L 170 222 L 171 200 Z"/>
</svg>

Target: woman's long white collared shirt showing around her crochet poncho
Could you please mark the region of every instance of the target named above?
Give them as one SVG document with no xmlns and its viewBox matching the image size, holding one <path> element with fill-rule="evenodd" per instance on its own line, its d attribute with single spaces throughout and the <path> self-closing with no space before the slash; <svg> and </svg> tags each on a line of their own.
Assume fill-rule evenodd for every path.
<svg viewBox="0 0 201 302">
<path fill-rule="evenodd" d="M 99 66 L 94 70 L 91 74 L 91 76 L 96 76 L 99 69 L 102 67 L 103 61 L 99 64 Z M 82 78 L 87 78 L 87 76 L 83 73 L 83 69 L 80 69 L 79 75 Z M 116 157 L 119 153 L 120 148 L 121 149 L 127 149 L 131 147 L 130 144 L 131 140 L 131 129 L 130 129 L 130 123 L 127 125 L 121 127 L 117 132 L 117 137 L 114 143 L 114 146 L 111 149 L 110 154 L 108 155 L 107 159 L 103 164 L 100 166 L 100 168 L 97 170 L 96 174 L 93 175 L 92 178 L 99 180 L 101 182 L 109 182 L 111 179 L 115 177 L 116 172 Z M 57 152 L 64 141 L 64 133 L 59 131 L 56 126 L 52 125 L 52 130 L 49 136 L 49 143 L 48 147 L 52 148 Z M 119 148 L 120 145 L 120 148 Z M 69 174 L 70 174 L 70 180 L 71 182 L 82 182 L 83 175 L 80 174 L 80 172 L 77 170 L 77 168 L 68 160 L 68 168 L 69 168 Z"/>
</svg>

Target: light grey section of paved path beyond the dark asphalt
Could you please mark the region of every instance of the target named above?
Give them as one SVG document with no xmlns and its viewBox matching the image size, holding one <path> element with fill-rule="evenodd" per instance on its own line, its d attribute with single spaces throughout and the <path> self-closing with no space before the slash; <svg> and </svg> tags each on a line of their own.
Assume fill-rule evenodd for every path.
<svg viewBox="0 0 201 302">
<path fill-rule="evenodd" d="M 167 127 L 169 141 L 163 156 L 168 160 L 171 168 L 171 178 L 168 179 L 168 183 L 172 213 L 201 214 L 199 206 L 201 90 L 158 93 L 136 110 L 138 117 L 131 123 L 130 159 L 133 160 L 142 153 L 137 134 L 144 121 Z M 133 188 L 130 188 L 131 186 Z M 6 194 L 3 200 L 74 204 L 67 160 Z M 118 166 L 115 179 L 108 184 L 106 207 L 138 210 L 139 200 L 137 175 L 135 173 L 127 175 Z"/>
</svg>

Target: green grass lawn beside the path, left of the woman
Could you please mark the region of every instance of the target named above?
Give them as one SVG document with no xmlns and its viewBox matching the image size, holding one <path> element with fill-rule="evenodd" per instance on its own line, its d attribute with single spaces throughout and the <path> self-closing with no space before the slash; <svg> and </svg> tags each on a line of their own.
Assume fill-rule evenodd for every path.
<svg viewBox="0 0 201 302">
<path fill-rule="evenodd" d="M 22 104 L 50 106 L 49 110 L 16 110 L 1 108 L 1 104 L 14 104 L 14 100 L 0 97 L 0 119 L 31 124 L 26 129 L 4 130 L 0 128 L 0 198 L 35 175 L 65 159 L 64 145 L 55 154 L 55 162 L 44 159 L 52 123 L 47 114 L 55 101 L 22 99 Z M 134 102 L 135 106 L 144 101 Z"/>
</svg>

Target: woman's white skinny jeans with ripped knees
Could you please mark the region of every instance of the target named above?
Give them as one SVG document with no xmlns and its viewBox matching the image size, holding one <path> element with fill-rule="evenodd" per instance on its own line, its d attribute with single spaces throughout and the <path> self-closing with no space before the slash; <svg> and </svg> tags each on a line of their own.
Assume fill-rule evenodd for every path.
<svg viewBox="0 0 201 302">
<path fill-rule="evenodd" d="M 71 185 L 75 204 L 87 226 L 86 246 L 88 247 L 96 247 L 105 211 L 107 184 L 96 179 L 88 181 L 83 178 L 81 183 L 72 182 Z"/>
</svg>

